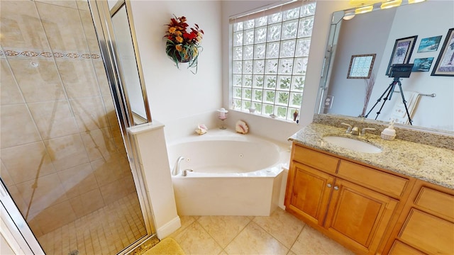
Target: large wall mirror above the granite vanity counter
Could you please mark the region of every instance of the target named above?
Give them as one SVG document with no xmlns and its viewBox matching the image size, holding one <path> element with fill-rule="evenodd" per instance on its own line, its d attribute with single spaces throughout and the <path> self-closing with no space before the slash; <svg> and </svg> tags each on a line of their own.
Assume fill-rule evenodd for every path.
<svg viewBox="0 0 454 255">
<path fill-rule="evenodd" d="M 374 8 L 378 10 L 357 14 L 350 20 L 343 19 L 343 16 L 351 10 L 333 13 L 316 113 L 364 116 L 380 100 L 376 107 L 379 111 L 384 103 L 380 114 L 377 116 L 374 109 L 367 119 L 389 122 L 397 106 L 403 103 L 398 86 L 391 92 L 389 100 L 384 101 L 386 95 L 382 96 L 394 81 L 387 75 L 394 46 L 399 39 L 417 36 L 408 63 L 416 66 L 423 63 L 423 68 L 414 68 L 410 77 L 399 79 L 404 96 L 416 93 L 416 97 L 411 99 L 412 128 L 452 134 L 454 78 L 431 75 L 434 67 L 431 60 L 436 62 L 441 46 L 433 50 L 435 47 L 431 45 L 431 50 L 426 51 L 425 45 L 429 39 L 440 35 L 439 44 L 443 45 L 448 30 L 454 27 L 454 2 L 428 0 L 387 9 L 380 9 L 379 3 Z M 420 47 L 424 50 L 419 50 Z M 369 78 L 362 76 L 368 63 L 358 69 L 362 70 L 361 74 L 350 75 L 354 57 L 358 55 L 375 55 L 370 64 L 370 76 L 367 75 Z"/>
</svg>

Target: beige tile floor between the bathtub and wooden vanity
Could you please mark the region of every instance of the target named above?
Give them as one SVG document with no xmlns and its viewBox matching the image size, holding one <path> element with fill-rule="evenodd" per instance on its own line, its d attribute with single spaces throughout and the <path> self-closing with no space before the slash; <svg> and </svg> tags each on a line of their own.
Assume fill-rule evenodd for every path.
<svg viewBox="0 0 454 255">
<path fill-rule="evenodd" d="M 191 254 L 353 254 L 277 208 L 270 217 L 182 216 L 174 238 Z"/>
</svg>

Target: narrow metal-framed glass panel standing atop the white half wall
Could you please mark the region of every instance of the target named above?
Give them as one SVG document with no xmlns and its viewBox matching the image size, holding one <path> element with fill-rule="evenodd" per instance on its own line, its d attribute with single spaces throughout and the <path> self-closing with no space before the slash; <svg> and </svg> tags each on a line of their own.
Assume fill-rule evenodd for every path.
<svg viewBox="0 0 454 255">
<path fill-rule="evenodd" d="M 89 0 L 89 5 L 118 118 L 124 119 L 127 127 L 150 123 L 131 3 Z"/>
</svg>

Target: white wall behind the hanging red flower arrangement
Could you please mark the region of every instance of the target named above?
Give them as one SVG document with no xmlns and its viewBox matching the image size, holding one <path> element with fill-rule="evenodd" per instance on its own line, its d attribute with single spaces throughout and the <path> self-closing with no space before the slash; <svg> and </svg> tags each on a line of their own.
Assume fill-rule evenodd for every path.
<svg viewBox="0 0 454 255">
<path fill-rule="evenodd" d="M 221 108 L 221 2 L 132 0 L 131 6 L 152 118 L 165 124 L 166 136 L 167 130 L 194 132 L 196 123 L 181 123 Z M 197 23 L 205 32 L 197 74 L 187 64 L 177 69 L 165 54 L 165 25 L 173 14 L 185 16 L 190 27 Z"/>
</svg>

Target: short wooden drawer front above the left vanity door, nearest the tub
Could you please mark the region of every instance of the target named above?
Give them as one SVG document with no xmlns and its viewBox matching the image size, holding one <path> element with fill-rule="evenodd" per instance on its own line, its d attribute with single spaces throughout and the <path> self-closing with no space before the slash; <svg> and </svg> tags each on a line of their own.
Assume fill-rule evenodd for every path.
<svg viewBox="0 0 454 255">
<path fill-rule="evenodd" d="M 312 149 L 294 145 L 293 160 L 322 171 L 336 173 L 339 159 L 316 152 Z"/>
</svg>

